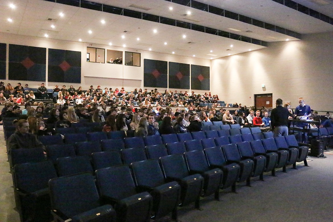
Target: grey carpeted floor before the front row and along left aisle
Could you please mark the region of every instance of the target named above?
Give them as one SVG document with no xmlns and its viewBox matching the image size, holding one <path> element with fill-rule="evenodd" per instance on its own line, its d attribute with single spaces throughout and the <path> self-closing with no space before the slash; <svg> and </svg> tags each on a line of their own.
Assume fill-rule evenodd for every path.
<svg viewBox="0 0 333 222">
<path fill-rule="evenodd" d="M 0 138 L 0 221 L 19 222 L 2 126 Z M 178 219 L 182 222 L 332 222 L 333 151 L 326 151 L 325 156 L 308 157 L 310 167 L 301 163 L 294 170 L 289 166 L 288 173 L 278 169 L 277 177 L 267 174 L 264 182 L 252 178 L 252 187 L 238 184 L 237 194 L 230 189 L 223 190 L 220 202 L 213 195 L 203 198 L 203 211 L 195 210 L 193 205 L 179 208 Z M 170 220 L 166 217 L 159 221 Z"/>
</svg>

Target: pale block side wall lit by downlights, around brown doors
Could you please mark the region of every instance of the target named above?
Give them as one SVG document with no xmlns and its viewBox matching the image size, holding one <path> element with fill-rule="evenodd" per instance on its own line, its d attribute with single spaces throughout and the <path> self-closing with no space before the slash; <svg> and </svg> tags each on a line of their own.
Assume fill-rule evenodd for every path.
<svg viewBox="0 0 333 222">
<path fill-rule="evenodd" d="M 333 110 L 333 33 L 304 35 L 300 41 L 211 62 L 212 92 L 225 101 L 254 105 L 254 94 L 273 94 L 292 108 L 298 98 L 315 110 Z M 265 84 L 265 88 L 261 85 Z"/>
</svg>

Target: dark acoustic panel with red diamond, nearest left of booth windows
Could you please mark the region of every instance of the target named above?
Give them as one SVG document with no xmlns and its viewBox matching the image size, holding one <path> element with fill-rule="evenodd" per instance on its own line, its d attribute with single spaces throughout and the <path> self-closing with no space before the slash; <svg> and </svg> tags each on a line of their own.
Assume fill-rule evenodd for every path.
<svg viewBox="0 0 333 222">
<path fill-rule="evenodd" d="M 49 49 L 48 81 L 81 83 L 81 52 Z"/>
</svg>

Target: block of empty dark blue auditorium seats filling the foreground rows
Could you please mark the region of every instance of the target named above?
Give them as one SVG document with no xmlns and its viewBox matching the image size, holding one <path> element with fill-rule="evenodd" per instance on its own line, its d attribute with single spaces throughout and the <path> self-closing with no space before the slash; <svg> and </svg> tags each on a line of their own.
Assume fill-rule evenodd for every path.
<svg viewBox="0 0 333 222">
<path fill-rule="evenodd" d="M 94 132 L 95 126 L 86 124 L 87 132 L 58 131 L 64 133 L 64 141 L 59 135 L 40 137 L 47 157 L 42 149 L 13 150 L 9 159 L 21 219 L 43 214 L 42 221 L 50 221 L 51 209 L 55 218 L 64 221 L 89 218 L 90 213 L 92 219 L 102 221 L 96 214 L 106 209 L 110 214 L 100 218 L 146 221 L 172 213 L 176 219 L 178 206 L 195 203 L 200 209 L 201 198 L 214 194 L 219 200 L 221 189 L 231 187 L 235 192 L 236 183 L 246 181 L 250 186 L 251 178 L 263 180 L 265 172 L 275 176 L 279 168 L 283 172 L 289 165 L 296 168 L 296 162 L 307 165 L 308 147 L 299 147 L 294 135 L 273 138 L 259 128 L 210 126 L 219 129 L 125 137 L 122 131 Z M 22 175 L 27 171 L 29 176 Z M 75 189 L 64 192 L 68 186 Z M 89 193 L 86 189 L 94 197 L 81 200 Z M 78 198 L 82 206 L 73 208 L 76 202 L 61 204 L 58 198 L 68 203 Z"/>
</svg>

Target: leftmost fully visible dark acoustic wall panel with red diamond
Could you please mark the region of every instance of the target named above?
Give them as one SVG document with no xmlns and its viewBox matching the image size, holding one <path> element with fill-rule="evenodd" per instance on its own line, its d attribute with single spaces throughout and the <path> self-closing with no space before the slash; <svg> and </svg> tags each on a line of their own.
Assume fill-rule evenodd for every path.
<svg viewBox="0 0 333 222">
<path fill-rule="evenodd" d="M 44 82 L 46 48 L 9 44 L 8 79 Z"/>
</svg>

